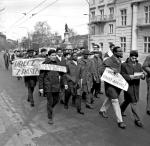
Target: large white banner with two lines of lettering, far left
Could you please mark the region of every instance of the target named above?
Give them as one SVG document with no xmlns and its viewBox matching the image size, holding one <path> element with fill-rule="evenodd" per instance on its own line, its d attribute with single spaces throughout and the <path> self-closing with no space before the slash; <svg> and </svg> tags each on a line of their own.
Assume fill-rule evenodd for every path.
<svg viewBox="0 0 150 146">
<path fill-rule="evenodd" d="M 12 76 L 38 76 L 44 58 L 17 59 L 12 64 Z"/>
</svg>

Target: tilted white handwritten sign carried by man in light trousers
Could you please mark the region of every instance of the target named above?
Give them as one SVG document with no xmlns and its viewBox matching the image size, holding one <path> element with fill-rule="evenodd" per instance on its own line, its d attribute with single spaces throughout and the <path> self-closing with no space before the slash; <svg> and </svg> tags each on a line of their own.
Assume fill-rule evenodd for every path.
<svg viewBox="0 0 150 146">
<path fill-rule="evenodd" d="M 122 75 L 119 73 L 114 74 L 114 71 L 111 70 L 110 68 L 105 69 L 105 71 L 101 77 L 101 80 L 103 80 L 111 85 L 114 85 L 122 90 L 125 90 L 125 91 L 127 91 L 128 87 L 129 87 L 128 83 L 122 77 Z"/>
</svg>

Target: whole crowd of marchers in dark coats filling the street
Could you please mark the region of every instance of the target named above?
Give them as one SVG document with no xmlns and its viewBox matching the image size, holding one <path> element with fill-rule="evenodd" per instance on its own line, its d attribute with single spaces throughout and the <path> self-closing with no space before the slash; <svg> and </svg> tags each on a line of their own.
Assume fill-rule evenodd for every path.
<svg viewBox="0 0 150 146">
<path fill-rule="evenodd" d="M 125 129 L 126 124 L 123 117 L 126 116 L 127 107 L 131 106 L 134 117 L 134 123 L 138 127 L 143 127 L 143 122 L 138 113 L 137 103 L 139 102 L 140 80 L 147 82 L 147 107 L 146 113 L 150 115 L 150 56 L 147 56 L 143 65 L 138 62 L 138 52 L 131 50 L 128 58 L 123 62 L 123 51 L 121 47 L 110 44 L 110 49 L 102 57 L 99 48 L 89 52 L 85 48 L 56 50 L 41 49 L 40 54 L 30 49 L 24 52 L 16 50 L 13 55 L 9 55 L 8 51 L 4 53 L 4 62 L 6 69 L 9 68 L 10 62 L 18 58 L 45 58 L 43 64 L 52 64 L 65 66 L 66 73 L 40 70 L 39 76 L 25 76 L 24 83 L 28 89 L 27 101 L 31 107 L 34 107 L 33 92 L 37 82 L 39 82 L 39 95 L 47 98 L 47 115 L 48 123 L 54 123 L 53 109 L 58 104 L 64 105 L 68 110 L 69 100 L 71 98 L 72 105 L 76 107 L 77 113 L 84 115 L 83 99 L 85 107 L 94 108 L 94 98 L 100 98 L 103 94 L 101 90 L 101 76 L 105 68 L 113 70 L 114 74 L 120 73 L 127 81 L 129 87 L 124 92 L 124 101 L 119 102 L 121 89 L 104 82 L 105 100 L 100 107 L 99 115 L 108 118 L 107 110 L 110 106 L 114 110 L 116 121 L 119 128 Z M 135 76 L 135 73 L 140 75 Z M 17 77 L 20 80 L 22 77 Z M 56 115 L 57 116 L 57 115 Z"/>
</svg>

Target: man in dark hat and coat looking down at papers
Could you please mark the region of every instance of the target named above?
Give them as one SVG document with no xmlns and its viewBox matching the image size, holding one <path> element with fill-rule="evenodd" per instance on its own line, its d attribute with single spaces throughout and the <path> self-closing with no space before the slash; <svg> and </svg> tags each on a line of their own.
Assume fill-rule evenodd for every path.
<svg viewBox="0 0 150 146">
<path fill-rule="evenodd" d="M 133 116 L 135 118 L 135 124 L 142 127 L 142 123 L 137 112 L 137 103 L 139 101 L 140 79 L 144 79 L 145 75 L 142 70 L 142 66 L 137 61 L 138 52 L 131 51 L 130 57 L 121 66 L 121 74 L 128 82 L 128 91 L 124 91 L 124 102 L 121 104 L 121 112 L 124 112 L 130 104 Z M 141 73 L 139 76 L 135 76 L 135 73 Z"/>
</svg>

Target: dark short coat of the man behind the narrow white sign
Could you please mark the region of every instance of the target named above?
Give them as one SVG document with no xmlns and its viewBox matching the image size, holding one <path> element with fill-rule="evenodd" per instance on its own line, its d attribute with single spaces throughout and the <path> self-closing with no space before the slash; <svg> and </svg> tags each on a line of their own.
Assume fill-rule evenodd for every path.
<svg viewBox="0 0 150 146">
<path fill-rule="evenodd" d="M 51 61 L 49 58 L 47 58 L 43 64 L 60 65 L 57 61 Z M 59 92 L 60 75 L 61 74 L 57 71 L 41 70 L 39 75 L 39 89 L 43 89 L 44 93 Z"/>
</svg>

